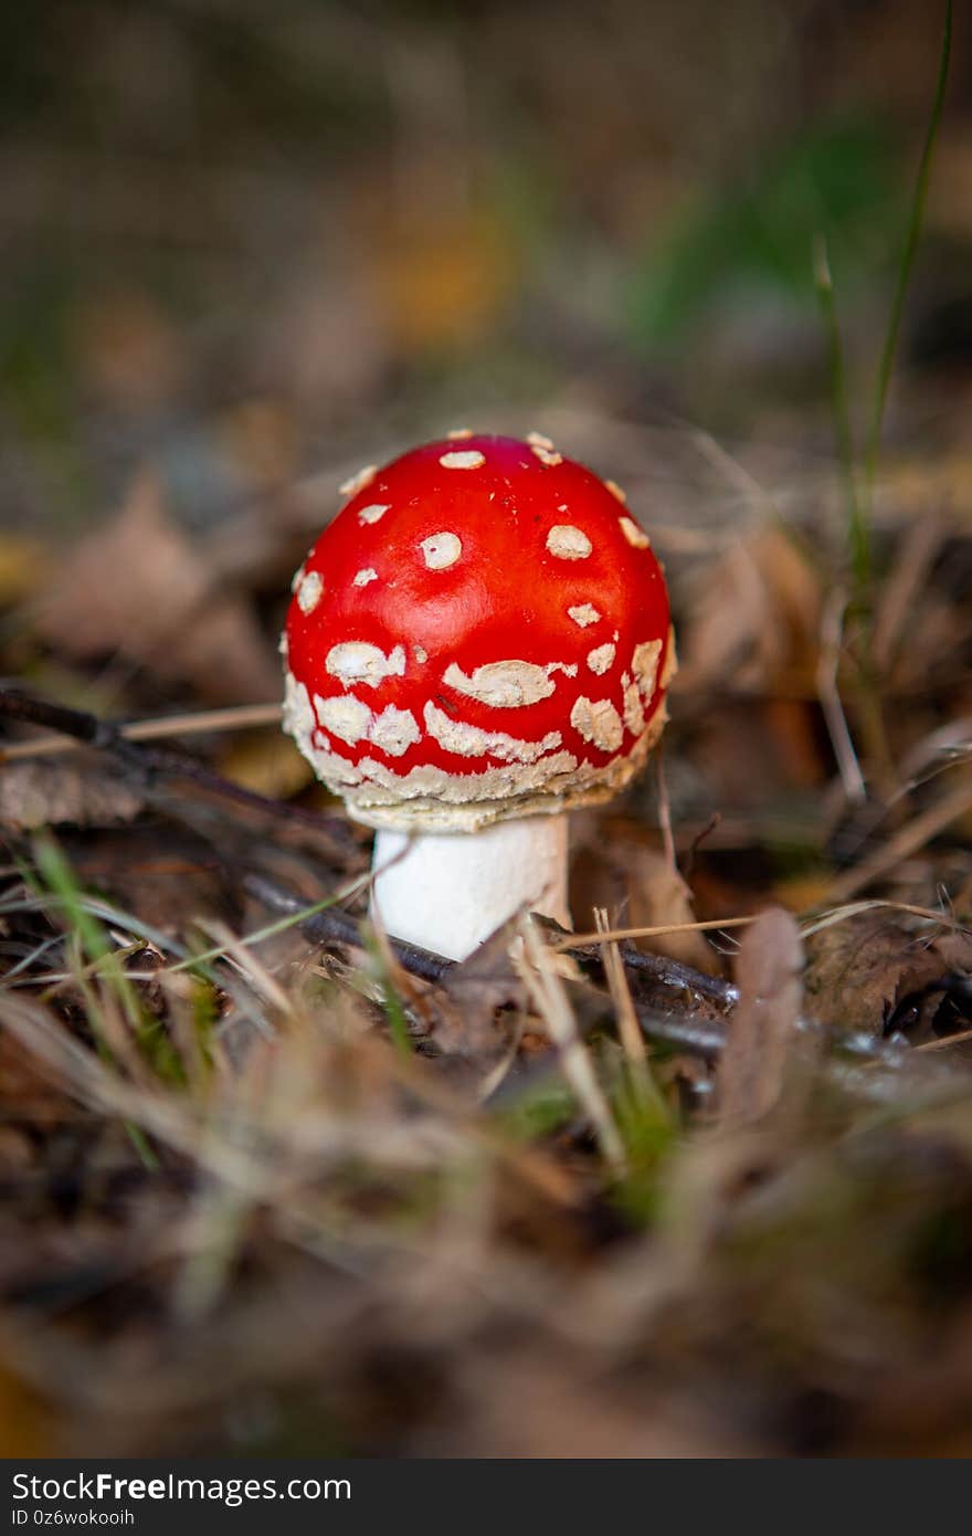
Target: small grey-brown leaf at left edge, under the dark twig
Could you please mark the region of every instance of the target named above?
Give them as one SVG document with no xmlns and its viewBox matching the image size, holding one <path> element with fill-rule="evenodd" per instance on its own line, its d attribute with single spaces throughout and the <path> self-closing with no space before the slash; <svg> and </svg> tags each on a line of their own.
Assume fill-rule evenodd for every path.
<svg viewBox="0 0 972 1536">
<path fill-rule="evenodd" d="M 112 763 L 84 757 L 0 765 L 0 826 L 115 826 L 138 816 L 143 797 Z"/>
</svg>

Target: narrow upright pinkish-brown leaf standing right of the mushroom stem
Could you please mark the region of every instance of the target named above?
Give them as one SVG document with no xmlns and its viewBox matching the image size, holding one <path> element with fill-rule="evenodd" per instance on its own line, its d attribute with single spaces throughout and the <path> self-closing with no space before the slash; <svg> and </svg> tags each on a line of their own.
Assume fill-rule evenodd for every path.
<svg viewBox="0 0 972 1536">
<path fill-rule="evenodd" d="M 716 1075 L 719 1118 L 759 1120 L 780 1100 L 800 1014 L 803 948 L 782 908 L 769 908 L 743 934 L 736 958 L 739 1003 Z"/>
</svg>

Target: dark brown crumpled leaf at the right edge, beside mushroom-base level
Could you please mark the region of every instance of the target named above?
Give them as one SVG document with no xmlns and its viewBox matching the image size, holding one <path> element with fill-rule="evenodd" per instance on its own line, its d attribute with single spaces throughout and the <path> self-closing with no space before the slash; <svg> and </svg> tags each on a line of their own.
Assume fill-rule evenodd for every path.
<svg viewBox="0 0 972 1536">
<path fill-rule="evenodd" d="M 934 1034 L 938 983 L 972 972 L 967 934 L 917 935 L 886 911 L 858 912 L 820 929 L 806 940 L 806 952 L 805 988 L 817 1018 L 868 1034 L 895 1020 L 915 1043 Z"/>
</svg>

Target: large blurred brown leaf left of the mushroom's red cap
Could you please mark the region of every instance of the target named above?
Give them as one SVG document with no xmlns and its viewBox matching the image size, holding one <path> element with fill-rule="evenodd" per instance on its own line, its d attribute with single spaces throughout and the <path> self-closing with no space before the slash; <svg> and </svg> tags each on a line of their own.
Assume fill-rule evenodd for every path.
<svg viewBox="0 0 972 1536">
<path fill-rule="evenodd" d="M 279 670 L 241 596 L 166 513 L 152 473 L 121 511 L 68 551 L 37 599 L 38 633 L 83 660 L 120 651 L 206 700 L 276 697 Z"/>
</svg>

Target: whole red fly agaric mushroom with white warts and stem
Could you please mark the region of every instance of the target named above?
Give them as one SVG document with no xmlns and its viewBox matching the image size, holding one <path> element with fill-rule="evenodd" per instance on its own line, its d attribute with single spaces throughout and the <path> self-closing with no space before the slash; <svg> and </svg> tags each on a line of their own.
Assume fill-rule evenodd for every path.
<svg viewBox="0 0 972 1536">
<path fill-rule="evenodd" d="M 458 960 L 524 905 L 568 925 L 565 813 L 666 719 L 646 533 L 536 433 L 456 433 L 341 488 L 293 579 L 284 725 L 378 831 L 381 920 Z"/>
</svg>

